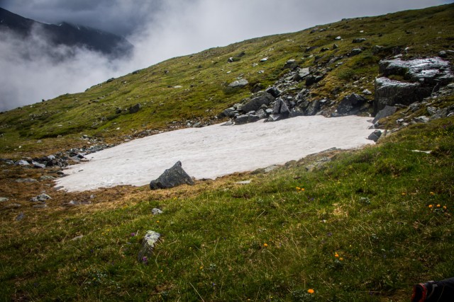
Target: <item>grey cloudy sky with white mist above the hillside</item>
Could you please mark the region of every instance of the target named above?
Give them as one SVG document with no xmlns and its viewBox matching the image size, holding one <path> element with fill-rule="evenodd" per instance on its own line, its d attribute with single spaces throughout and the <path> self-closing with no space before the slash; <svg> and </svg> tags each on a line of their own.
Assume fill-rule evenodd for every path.
<svg viewBox="0 0 454 302">
<path fill-rule="evenodd" d="M 342 18 L 424 8 L 446 0 L 0 0 L 0 7 L 45 23 L 67 21 L 110 31 L 135 45 L 129 62 L 108 62 L 79 50 L 55 63 L 37 53 L 33 64 L 0 40 L 0 111 L 84 91 L 113 76 L 165 59 L 253 37 L 289 33 Z M 37 41 L 35 41 L 37 42 Z M 38 41 L 39 44 L 39 41 Z M 25 45 L 30 47 L 31 45 Z M 33 46 L 34 47 L 34 46 Z M 32 47 L 32 48 L 33 48 Z"/>
</svg>

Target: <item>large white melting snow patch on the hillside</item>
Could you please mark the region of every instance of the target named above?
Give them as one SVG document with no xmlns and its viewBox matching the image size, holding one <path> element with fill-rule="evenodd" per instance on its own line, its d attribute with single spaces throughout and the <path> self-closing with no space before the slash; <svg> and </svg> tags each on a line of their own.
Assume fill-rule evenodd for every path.
<svg viewBox="0 0 454 302">
<path fill-rule="evenodd" d="M 333 147 L 353 149 L 373 132 L 370 117 L 293 117 L 238 126 L 215 124 L 135 139 L 92 153 L 56 181 L 67 191 L 147 185 L 177 161 L 192 177 L 217 178 L 298 160 Z"/>
</svg>

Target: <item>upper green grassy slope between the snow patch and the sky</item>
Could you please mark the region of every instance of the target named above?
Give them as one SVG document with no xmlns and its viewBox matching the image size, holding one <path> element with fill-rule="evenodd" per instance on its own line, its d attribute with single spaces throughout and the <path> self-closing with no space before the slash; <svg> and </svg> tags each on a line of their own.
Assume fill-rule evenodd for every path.
<svg viewBox="0 0 454 302">
<path fill-rule="evenodd" d="M 146 129 L 167 130 L 170 126 L 184 127 L 187 120 L 214 120 L 223 109 L 250 96 L 255 84 L 272 85 L 288 71 L 283 69 L 288 59 L 297 59 L 300 66 L 315 68 L 316 63 L 345 56 L 354 47 L 366 50 L 355 57 L 344 57 L 341 66 L 331 65 L 333 70 L 311 89 L 311 98 L 341 100 L 343 95 L 360 93 L 365 88 L 374 91 L 377 62 L 389 56 L 392 47 L 409 47 L 404 57 L 433 56 L 450 47 L 454 38 L 453 14 L 454 6 L 447 5 L 348 19 L 319 26 L 326 28 L 323 32 L 310 33 L 308 29 L 260 37 L 169 59 L 136 74 L 93 86 L 85 93 L 60 95 L 0 115 L 0 132 L 3 133 L 0 156 L 19 158 L 31 153 L 47 156 L 58 150 L 55 146 L 79 146 L 82 142 L 78 138 L 82 134 L 118 142 Z M 334 40 L 338 35 L 343 40 Z M 367 41 L 352 43 L 355 37 L 365 37 Z M 335 42 L 336 50 L 333 49 Z M 374 45 L 387 47 L 388 51 L 373 55 Z M 309 46 L 317 48 L 305 52 Z M 330 50 L 321 52 L 322 47 Z M 229 57 L 237 57 L 241 52 L 245 55 L 237 62 L 227 62 Z M 268 61 L 253 66 L 263 57 L 269 57 Z M 319 59 L 315 63 L 316 57 Z M 265 72 L 259 74 L 260 70 Z M 250 85 L 228 89 L 227 84 L 240 75 L 248 79 Z M 143 105 L 139 112 L 116 114 L 116 108 L 127 110 L 137 103 Z M 41 144 L 36 144 L 38 139 L 42 140 Z"/>
</svg>

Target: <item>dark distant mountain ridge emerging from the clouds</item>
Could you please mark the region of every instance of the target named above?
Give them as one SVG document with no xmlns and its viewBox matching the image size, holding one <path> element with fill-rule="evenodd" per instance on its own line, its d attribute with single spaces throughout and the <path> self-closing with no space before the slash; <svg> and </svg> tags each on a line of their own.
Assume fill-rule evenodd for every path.
<svg viewBox="0 0 454 302">
<path fill-rule="evenodd" d="M 66 22 L 59 25 L 40 23 L 0 8 L 0 31 L 4 30 L 11 30 L 23 38 L 38 33 L 54 45 L 87 47 L 111 57 L 128 55 L 133 49 L 128 40 L 113 33 Z"/>
</svg>

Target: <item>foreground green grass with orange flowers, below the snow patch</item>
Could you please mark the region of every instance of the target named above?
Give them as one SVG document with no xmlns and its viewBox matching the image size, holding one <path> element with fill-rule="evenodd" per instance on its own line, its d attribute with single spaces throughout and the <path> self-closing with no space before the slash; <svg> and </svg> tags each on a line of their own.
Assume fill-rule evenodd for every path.
<svg viewBox="0 0 454 302">
<path fill-rule="evenodd" d="M 245 176 L 250 185 L 143 188 L 18 222 L 3 210 L 0 300 L 408 301 L 414 284 L 454 274 L 453 122 L 411 126 L 313 172 L 302 160 Z M 148 230 L 162 240 L 145 265 Z"/>
</svg>

